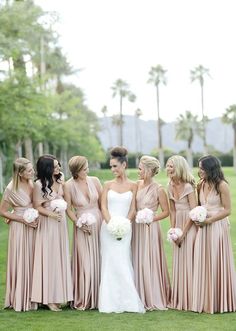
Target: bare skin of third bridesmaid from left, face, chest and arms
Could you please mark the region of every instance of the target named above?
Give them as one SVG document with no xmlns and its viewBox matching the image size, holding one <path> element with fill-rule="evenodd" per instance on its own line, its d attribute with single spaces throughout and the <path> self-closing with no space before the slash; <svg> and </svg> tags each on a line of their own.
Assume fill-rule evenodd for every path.
<svg viewBox="0 0 236 331">
<path fill-rule="evenodd" d="M 85 166 L 78 172 L 78 178 L 74 179 L 76 184 L 78 185 L 80 191 L 83 193 L 87 201 L 90 200 L 89 196 L 89 189 L 88 189 L 88 183 L 87 183 L 87 176 L 89 173 L 89 167 L 88 163 L 85 164 Z M 97 177 L 92 177 L 93 183 L 95 184 L 98 194 L 99 194 L 99 205 L 100 205 L 100 198 L 101 198 L 101 192 L 102 192 L 102 185 Z M 73 210 L 73 205 L 72 205 L 72 196 L 71 192 L 68 189 L 68 184 L 65 183 L 64 185 L 64 198 L 67 202 L 67 215 L 69 218 L 76 224 L 77 222 L 77 217 L 76 214 Z M 91 228 L 90 226 L 84 224 L 81 228 L 79 228 L 81 231 L 91 234 Z"/>
</svg>

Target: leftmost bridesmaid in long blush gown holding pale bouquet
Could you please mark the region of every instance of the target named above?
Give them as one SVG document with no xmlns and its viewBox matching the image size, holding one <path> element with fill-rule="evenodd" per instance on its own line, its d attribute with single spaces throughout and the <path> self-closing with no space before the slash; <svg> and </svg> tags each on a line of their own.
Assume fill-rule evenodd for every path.
<svg viewBox="0 0 236 331">
<path fill-rule="evenodd" d="M 25 158 L 17 159 L 13 163 L 13 178 L 0 204 L 0 215 L 7 218 L 9 224 L 5 308 L 15 311 L 37 309 L 37 304 L 31 301 L 37 220 L 27 223 L 23 219 L 24 211 L 32 208 L 33 176 L 31 162 Z"/>
</svg>

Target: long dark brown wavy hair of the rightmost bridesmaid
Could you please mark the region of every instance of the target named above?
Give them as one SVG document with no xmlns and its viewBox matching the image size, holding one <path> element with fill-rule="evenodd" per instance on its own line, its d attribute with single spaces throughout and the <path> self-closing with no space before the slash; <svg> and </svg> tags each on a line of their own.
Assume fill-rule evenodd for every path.
<svg viewBox="0 0 236 331">
<path fill-rule="evenodd" d="M 212 184 L 216 192 L 220 194 L 220 189 L 219 189 L 220 182 L 223 180 L 226 183 L 228 183 L 222 171 L 220 160 L 213 155 L 206 155 L 206 156 L 202 156 L 198 160 L 198 164 L 200 164 L 200 162 L 201 162 L 201 168 L 206 173 L 206 181 L 209 184 Z M 202 182 L 203 180 L 199 182 L 198 186 L 201 186 Z"/>
</svg>

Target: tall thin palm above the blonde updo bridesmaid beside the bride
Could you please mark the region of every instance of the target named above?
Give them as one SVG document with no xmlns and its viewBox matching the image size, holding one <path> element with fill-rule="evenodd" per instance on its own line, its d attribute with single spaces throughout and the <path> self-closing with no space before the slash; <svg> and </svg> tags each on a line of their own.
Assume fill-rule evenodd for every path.
<svg viewBox="0 0 236 331">
<path fill-rule="evenodd" d="M 158 135 L 158 154 L 159 154 L 159 161 L 161 166 L 164 165 L 164 152 L 163 152 L 163 145 L 162 145 L 162 133 L 161 133 L 161 118 L 160 118 L 160 95 L 159 95 L 159 85 L 163 84 L 166 85 L 166 72 L 163 67 L 158 64 L 155 67 L 151 67 L 149 71 L 149 80 L 148 83 L 154 84 L 156 87 L 156 96 L 157 96 L 157 135 Z"/>
</svg>

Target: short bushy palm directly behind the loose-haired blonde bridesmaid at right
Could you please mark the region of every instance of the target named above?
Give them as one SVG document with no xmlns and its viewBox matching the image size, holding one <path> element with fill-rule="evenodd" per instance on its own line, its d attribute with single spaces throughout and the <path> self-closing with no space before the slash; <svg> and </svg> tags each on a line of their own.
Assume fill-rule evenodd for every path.
<svg viewBox="0 0 236 331">
<path fill-rule="evenodd" d="M 187 142 L 187 161 L 189 166 L 193 167 L 193 152 L 192 144 L 194 134 L 201 134 L 201 123 L 198 121 L 198 116 L 193 115 L 189 110 L 185 114 L 180 114 L 175 124 L 175 138 L 177 140 L 184 140 Z"/>
</svg>

